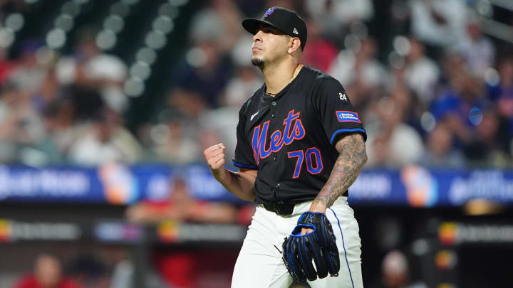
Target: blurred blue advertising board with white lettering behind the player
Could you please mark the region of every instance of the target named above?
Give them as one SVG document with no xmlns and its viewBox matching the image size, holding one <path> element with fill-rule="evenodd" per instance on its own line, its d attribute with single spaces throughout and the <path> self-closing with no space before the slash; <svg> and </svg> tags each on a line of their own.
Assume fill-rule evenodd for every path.
<svg viewBox="0 0 513 288">
<path fill-rule="evenodd" d="M 166 201 L 180 179 L 197 199 L 234 201 L 204 164 L 187 166 L 105 164 L 74 166 L 0 165 L 0 201 L 105 203 Z M 513 203 L 513 170 L 364 169 L 349 189 L 356 205 L 460 206 L 474 199 Z"/>
</svg>

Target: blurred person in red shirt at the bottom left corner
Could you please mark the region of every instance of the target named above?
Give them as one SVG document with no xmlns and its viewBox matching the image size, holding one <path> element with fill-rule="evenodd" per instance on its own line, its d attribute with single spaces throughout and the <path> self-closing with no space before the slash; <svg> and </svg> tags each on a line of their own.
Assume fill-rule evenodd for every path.
<svg viewBox="0 0 513 288">
<path fill-rule="evenodd" d="M 61 262 L 49 254 L 36 258 L 33 274 L 26 275 L 13 288 L 81 288 L 76 282 L 63 276 Z"/>
</svg>

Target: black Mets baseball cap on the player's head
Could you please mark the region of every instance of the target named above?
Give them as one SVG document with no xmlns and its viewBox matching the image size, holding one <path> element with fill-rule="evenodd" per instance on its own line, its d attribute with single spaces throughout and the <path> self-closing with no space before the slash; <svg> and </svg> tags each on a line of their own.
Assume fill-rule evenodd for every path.
<svg viewBox="0 0 513 288">
<path fill-rule="evenodd" d="M 242 27 L 253 35 L 258 32 L 259 24 L 273 26 L 284 34 L 297 37 L 301 41 L 301 50 L 306 45 L 306 23 L 296 12 L 278 6 L 267 9 L 261 18 L 247 18 L 242 21 Z"/>
</svg>

